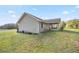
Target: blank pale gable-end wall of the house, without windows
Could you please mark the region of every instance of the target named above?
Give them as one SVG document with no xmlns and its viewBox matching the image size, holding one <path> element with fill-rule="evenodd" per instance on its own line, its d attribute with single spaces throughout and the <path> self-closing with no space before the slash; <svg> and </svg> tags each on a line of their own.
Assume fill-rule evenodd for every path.
<svg viewBox="0 0 79 59">
<path fill-rule="evenodd" d="M 20 32 L 39 33 L 39 22 L 31 16 L 26 15 L 18 24 Z"/>
</svg>

